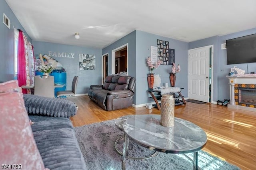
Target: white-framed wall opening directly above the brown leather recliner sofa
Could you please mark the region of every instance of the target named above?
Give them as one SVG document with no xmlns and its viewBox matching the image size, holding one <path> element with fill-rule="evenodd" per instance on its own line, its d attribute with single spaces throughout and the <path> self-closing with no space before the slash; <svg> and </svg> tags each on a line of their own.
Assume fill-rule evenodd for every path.
<svg viewBox="0 0 256 170">
<path fill-rule="evenodd" d="M 112 74 L 128 75 L 128 43 L 112 50 Z"/>
</svg>

